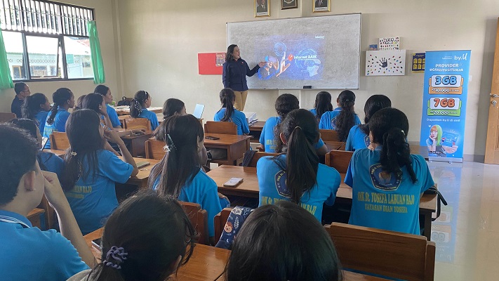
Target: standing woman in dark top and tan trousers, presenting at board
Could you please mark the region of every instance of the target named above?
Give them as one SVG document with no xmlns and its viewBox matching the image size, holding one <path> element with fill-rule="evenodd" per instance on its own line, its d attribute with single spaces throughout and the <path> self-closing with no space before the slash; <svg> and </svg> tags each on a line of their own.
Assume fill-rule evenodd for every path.
<svg viewBox="0 0 499 281">
<path fill-rule="evenodd" d="M 265 65 L 265 62 L 260 62 L 250 70 L 246 61 L 241 58 L 239 47 L 234 44 L 227 47 L 225 63 L 223 64 L 222 83 L 225 88 L 232 89 L 236 94 L 234 107 L 237 110 L 244 110 L 244 104 L 248 96 L 246 75 L 253 76 L 263 65 Z"/>
</svg>

